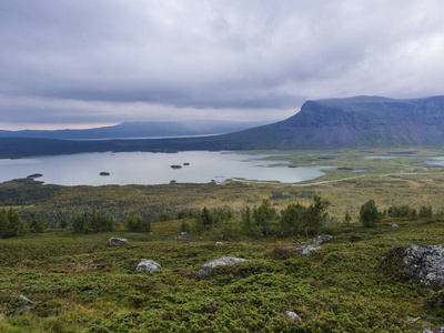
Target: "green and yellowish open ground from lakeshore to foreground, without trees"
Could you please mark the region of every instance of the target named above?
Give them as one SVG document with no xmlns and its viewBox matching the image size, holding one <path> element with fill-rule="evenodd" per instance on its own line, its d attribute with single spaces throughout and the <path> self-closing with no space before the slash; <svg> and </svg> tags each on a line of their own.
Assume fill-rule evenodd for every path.
<svg viewBox="0 0 444 333">
<path fill-rule="evenodd" d="M 444 309 L 432 301 L 438 291 L 400 279 L 397 268 L 394 274 L 383 272 L 380 263 L 394 244 L 443 244 L 444 222 L 386 218 L 369 229 L 357 221 L 361 205 L 371 199 L 380 210 L 408 204 L 441 212 L 444 168 L 423 163 L 441 153 L 422 149 L 275 157 L 282 161 L 285 155 L 295 168 L 337 168 L 303 184 L 0 184 L 0 208 L 13 208 L 22 219 L 33 213 L 51 226 L 0 240 L 0 332 L 421 332 L 442 326 Z M 182 221 L 160 221 L 162 214 L 181 210 L 223 208 L 233 212 L 235 226 L 246 206 L 259 206 L 264 199 L 280 211 L 290 203 L 307 205 L 315 194 L 331 202 L 325 232 L 334 239 L 310 256 L 286 250 L 296 244 L 294 239 L 226 238 L 222 226 L 174 240 Z M 58 229 L 62 219 L 71 222 L 92 210 L 120 224 L 129 214 L 141 214 L 153 221 L 153 234 L 127 232 L 122 225 L 98 234 Z M 345 211 L 352 215 L 350 224 L 343 222 Z M 129 244 L 107 246 L 111 236 Z M 223 246 L 216 248 L 216 241 Z M 312 243 L 311 238 L 299 241 Z M 199 280 L 200 266 L 221 256 L 248 261 Z M 142 259 L 157 261 L 162 271 L 137 271 Z M 34 304 L 26 307 L 17 295 Z M 301 322 L 285 311 L 297 313 Z"/>
</svg>

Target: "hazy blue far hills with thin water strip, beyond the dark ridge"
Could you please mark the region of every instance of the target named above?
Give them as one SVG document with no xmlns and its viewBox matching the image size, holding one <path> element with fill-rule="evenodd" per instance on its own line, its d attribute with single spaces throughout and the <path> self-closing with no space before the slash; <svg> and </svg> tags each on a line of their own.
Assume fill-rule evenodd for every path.
<svg viewBox="0 0 444 333">
<path fill-rule="evenodd" d="M 270 123 L 270 121 L 223 121 L 223 120 L 189 120 L 189 121 L 151 121 L 123 122 L 113 127 L 102 127 L 84 130 L 23 130 L 2 131 L 0 138 L 39 138 L 61 140 L 95 140 L 95 139 L 130 139 L 130 138 L 164 138 L 224 134 Z"/>
</svg>

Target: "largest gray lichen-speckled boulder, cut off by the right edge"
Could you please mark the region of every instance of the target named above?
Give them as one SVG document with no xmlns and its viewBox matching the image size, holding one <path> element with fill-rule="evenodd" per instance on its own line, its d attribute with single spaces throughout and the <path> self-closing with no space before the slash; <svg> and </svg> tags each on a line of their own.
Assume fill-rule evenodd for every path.
<svg viewBox="0 0 444 333">
<path fill-rule="evenodd" d="M 410 244 L 404 252 L 407 273 L 421 284 L 444 285 L 444 245 Z"/>
</svg>

